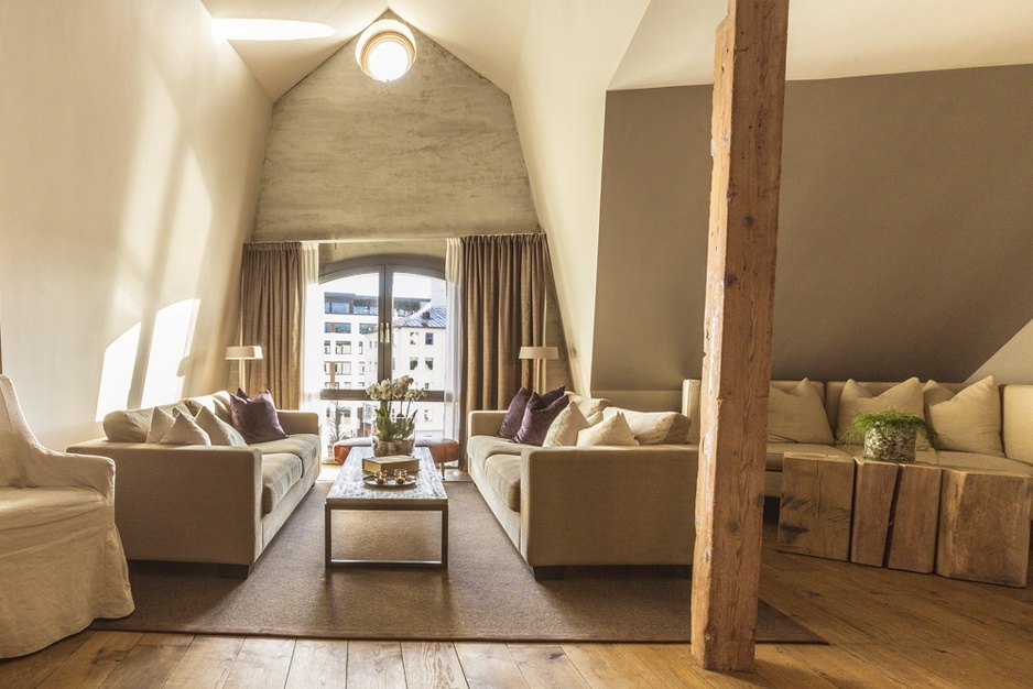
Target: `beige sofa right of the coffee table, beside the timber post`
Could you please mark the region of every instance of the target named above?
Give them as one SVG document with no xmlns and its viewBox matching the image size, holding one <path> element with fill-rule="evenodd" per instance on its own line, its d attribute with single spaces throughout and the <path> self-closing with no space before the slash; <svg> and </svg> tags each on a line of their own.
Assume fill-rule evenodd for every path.
<svg viewBox="0 0 1033 689">
<path fill-rule="evenodd" d="M 504 416 L 470 413 L 468 467 L 535 579 L 568 565 L 692 565 L 695 447 L 516 445 L 496 437 Z"/>
</svg>

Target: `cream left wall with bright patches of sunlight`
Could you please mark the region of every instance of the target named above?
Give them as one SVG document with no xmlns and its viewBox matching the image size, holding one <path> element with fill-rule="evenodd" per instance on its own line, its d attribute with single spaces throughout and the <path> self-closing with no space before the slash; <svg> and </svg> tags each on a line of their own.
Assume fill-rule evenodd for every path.
<svg viewBox="0 0 1033 689">
<path fill-rule="evenodd" d="M 196 0 L 0 3 L 3 371 L 54 448 L 222 387 L 271 103 Z"/>
</svg>

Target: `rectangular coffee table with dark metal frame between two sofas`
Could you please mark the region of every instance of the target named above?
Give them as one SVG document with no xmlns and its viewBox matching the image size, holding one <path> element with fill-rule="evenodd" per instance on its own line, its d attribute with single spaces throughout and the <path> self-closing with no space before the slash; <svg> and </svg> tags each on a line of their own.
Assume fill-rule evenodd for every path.
<svg viewBox="0 0 1033 689">
<path fill-rule="evenodd" d="M 371 488 L 362 482 L 362 460 L 372 455 L 370 447 L 356 447 L 337 474 L 337 480 L 326 495 L 326 566 L 327 567 L 399 567 L 436 568 L 448 567 L 448 495 L 437 473 L 427 448 L 413 448 L 420 459 L 416 484 L 407 488 Z M 335 559 L 330 555 L 334 543 L 333 514 L 337 510 L 382 510 L 399 512 L 442 513 L 442 557 L 439 560 L 349 560 Z"/>
</svg>

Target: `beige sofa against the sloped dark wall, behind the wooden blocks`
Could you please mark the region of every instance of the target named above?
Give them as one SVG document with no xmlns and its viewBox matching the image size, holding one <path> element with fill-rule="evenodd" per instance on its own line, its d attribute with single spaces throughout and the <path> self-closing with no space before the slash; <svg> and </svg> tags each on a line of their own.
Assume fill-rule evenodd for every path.
<svg viewBox="0 0 1033 689">
<path fill-rule="evenodd" d="M 781 391 L 794 389 L 800 381 L 772 381 L 772 387 Z M 818 393 L 828 418 L 833 436 L 838 435 L 840 398 L 846 386 L 845 381 L 822 383 L 811 381 Z M 872 395 L 880 395 L 899 383 L 865 382 L 860 383 Z M 969 385 L 966 383 L 943 383 L 943 387 L 958 393 Z M 958 469 L 980 469 L 1033 475 L 1033 385 L 1009 384 L 1000 386 L 1001 397 L 1001 448 L 1003 457 L 988 453 L 928 449 L 920 450 L 917 461 Z M 700 382 L 686 380 L 682 385 L 682 413 L 692 419 L 689 442 L 698 448 L 699 444 L 699 395 Z M 931 423 L 933 419 L 927 419 Z M 934 424 L 935 426 L 935 424 Z M 769 439 L 770 440 L 770 439 Z M 787 451 L 816 452 L 852 457 L 860 456 L 861 448 L 849 445 L 771 442 L 768 444 L 768 462 L 764 494 L 778 497 L 782 492 L 782 458 Z"/>
</svg>

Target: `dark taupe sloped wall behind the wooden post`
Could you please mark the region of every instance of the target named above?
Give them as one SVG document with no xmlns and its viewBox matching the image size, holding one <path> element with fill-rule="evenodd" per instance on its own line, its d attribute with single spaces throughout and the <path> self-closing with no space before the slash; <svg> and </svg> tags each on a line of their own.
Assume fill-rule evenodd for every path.
<svg viewBox="0 0 1033 689">
<path fill-rule="evenodd" d="M 607 95 L 592 390 L 703 360 L 710 87 Z M 964 381 L 1033 319 L 1033 66 L 787 85 L 774 378 Z"/>
</svg>

